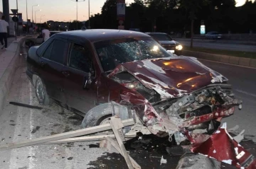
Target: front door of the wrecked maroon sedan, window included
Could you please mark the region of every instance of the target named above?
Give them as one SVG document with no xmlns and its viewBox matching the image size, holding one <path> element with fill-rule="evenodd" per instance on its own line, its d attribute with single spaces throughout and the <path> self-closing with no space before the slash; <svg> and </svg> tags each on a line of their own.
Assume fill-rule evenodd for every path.
<svg viewBox="0 0 256 169">
<path fill-rule="evenodd" d="M 97 104 L 97 86 L 95 80 L 95 66 L 92 64 L 90 48 L 70 42 L 70 52 L 67 66 L 64 70 L 65 96 L 69 107 L 86 113 Z"/>
</svg>

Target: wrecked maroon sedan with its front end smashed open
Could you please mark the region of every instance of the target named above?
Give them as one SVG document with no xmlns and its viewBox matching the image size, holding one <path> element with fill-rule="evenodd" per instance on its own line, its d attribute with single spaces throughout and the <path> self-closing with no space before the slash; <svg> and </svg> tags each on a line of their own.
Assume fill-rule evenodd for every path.
<svg viewBox="0 0 256 169">
<path fill-rule="evenodd" d="M 177 144 L 185 139 L 197 144 L 193 131 L 218 131 L 221 118 L 242 106 L 227 78 L 196 58 L 176 57 L 144 33 L 58 33 L 31 47 L 27 62 L 39 103 L 55 100 L 85 116 L 84 128 L 118 115 L 136 122 L 125 134 L 152 133 Z"/>
</svg>

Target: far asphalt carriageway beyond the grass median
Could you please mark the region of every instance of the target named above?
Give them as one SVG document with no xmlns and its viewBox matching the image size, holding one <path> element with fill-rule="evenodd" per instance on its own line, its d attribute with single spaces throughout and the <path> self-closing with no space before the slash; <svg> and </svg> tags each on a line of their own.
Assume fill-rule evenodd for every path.
<svg viewBox="0 0 256 169">
<path fill-rule="evenodd" d="M 190 39 L 175 39 L 184 46 L 190 46 Z M 203 47 L 208 49 L 225 49 L 233 51 L 256 52 L 256 45 L 243 45 L 231 42 L 221 42 L 219 40 L 199 40 L 193 41 L 194 47 Z"/>
</svg>

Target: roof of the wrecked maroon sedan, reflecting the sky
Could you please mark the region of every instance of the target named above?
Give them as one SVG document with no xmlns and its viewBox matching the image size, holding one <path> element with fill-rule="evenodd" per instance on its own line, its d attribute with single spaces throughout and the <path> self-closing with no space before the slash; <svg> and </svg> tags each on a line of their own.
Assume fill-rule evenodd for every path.
<svg viewBox="0 0 256 169">
<path fill-rule="evenodd" d="M 121 39 L 125 37 L 150 37 L 144 33 L 131 30 L 110 30 L 110 29 L 87 29 L 73 30 L 58 33 L 58 36 L 80 37 L 90 40 L 90 42 L 98 42 L 102 40 Z"/>
</svg>

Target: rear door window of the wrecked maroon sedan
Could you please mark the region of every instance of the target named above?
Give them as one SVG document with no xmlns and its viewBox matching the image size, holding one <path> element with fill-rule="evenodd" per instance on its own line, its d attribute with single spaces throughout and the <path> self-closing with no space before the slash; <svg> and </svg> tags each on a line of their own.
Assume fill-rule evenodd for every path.
<svg viewBox="0 0 256 169">
<path fill-rule="evenodd" d="M 61 40 L 54 40 L 53 47 L 50 52 L 50 60 L 63 64 L 67 43 Z"/>
</svg>

